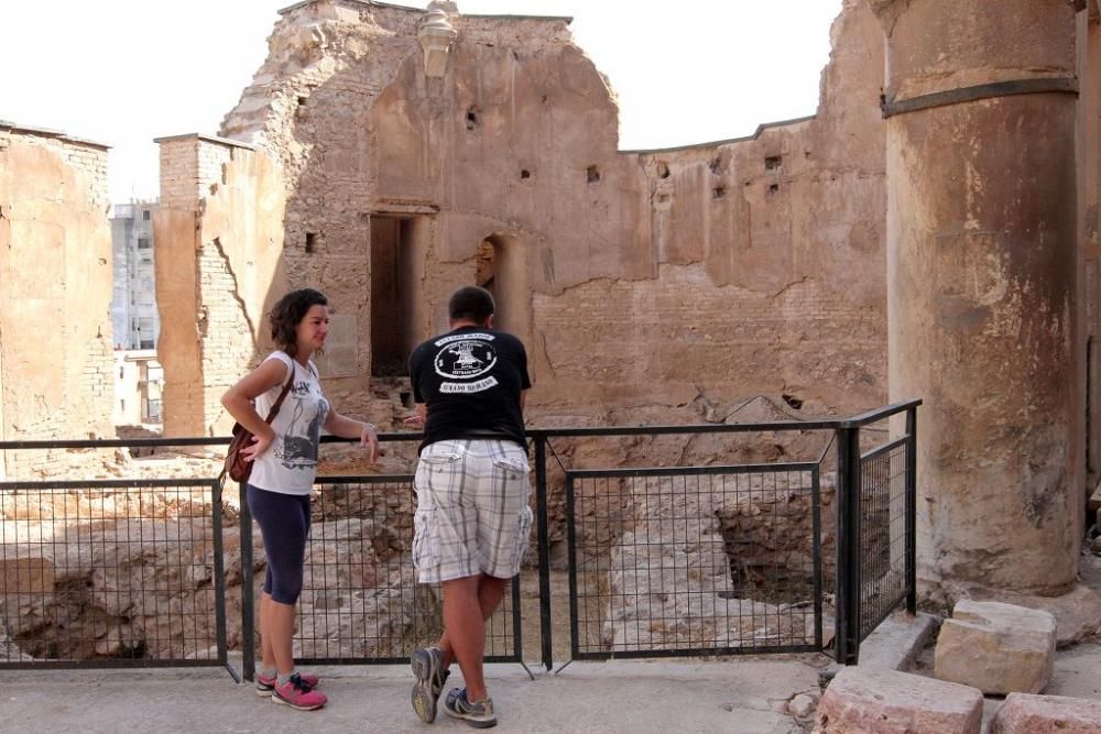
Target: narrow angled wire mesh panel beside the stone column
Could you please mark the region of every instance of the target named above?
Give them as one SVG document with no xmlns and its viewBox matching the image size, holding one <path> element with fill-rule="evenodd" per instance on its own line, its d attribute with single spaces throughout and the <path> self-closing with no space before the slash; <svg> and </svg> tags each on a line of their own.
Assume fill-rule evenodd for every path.
<svg viewBox="0 0 1101 734">
<path fill-rule="evenodd" d="M 860 639 L 906 599 L 906 446 L 860 458 Z"/>
</svg>

